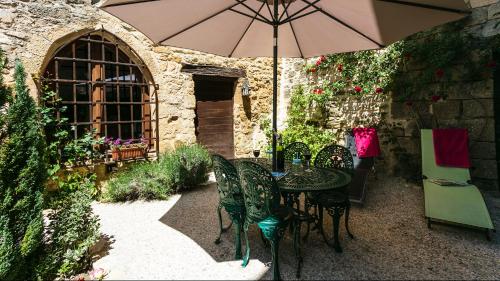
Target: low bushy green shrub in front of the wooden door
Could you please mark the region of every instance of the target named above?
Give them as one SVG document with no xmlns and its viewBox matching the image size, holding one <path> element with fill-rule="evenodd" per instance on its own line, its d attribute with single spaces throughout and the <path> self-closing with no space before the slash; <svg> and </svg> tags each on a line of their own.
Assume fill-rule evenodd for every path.
<svg viewBox="0 0 500 281">
<path fill-rule="evenodd" d="M 104 201 L 164 200 L 173 192 L 208 180 L 210 154 L 200 145 L 182 146 L 157 161 L 138 163 L 115 174 L 103 194 Z"/>
</svg>

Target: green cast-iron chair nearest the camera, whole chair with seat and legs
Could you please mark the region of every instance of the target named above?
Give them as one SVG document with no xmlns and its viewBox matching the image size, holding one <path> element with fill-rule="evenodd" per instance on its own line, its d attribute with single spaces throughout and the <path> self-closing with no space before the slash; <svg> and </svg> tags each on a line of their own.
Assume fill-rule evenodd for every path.
<svg viewBox="0 0 500 281">
<path fill-rule="evenodd" d="M 246 217 L 243 224 L 246 240 L 246 254 L 243 266 L 247 266 L 250 258 L 248 228 L 252 224 L 262 230 L 271 244 L 273 279 L 281 279 L 278 260 L 279 242 L 287 227 L 295 229 L 293 209 L 283 206 L 279 187 L 272 174 L 259 164 L 251 161 L 237 162 L 245 200 Z M 294 231 L 294 250 L 298 255 L 297 235 Z M 299 265 L 300 266 L 300 265 Z"/>
</svg>

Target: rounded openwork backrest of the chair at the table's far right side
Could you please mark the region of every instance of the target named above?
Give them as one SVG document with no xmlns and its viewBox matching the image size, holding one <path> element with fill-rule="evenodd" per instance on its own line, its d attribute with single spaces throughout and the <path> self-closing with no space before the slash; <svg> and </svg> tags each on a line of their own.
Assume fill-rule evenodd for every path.
<svg viewBox="0 0 500 281">
<path fill-rule="evenodd" d="M 314 166 L 319 168 L 341 169 L 352 173 L 354 161 L 349 149 L 340 145 L 329 145 L 316 155 Z"/>
</svg>

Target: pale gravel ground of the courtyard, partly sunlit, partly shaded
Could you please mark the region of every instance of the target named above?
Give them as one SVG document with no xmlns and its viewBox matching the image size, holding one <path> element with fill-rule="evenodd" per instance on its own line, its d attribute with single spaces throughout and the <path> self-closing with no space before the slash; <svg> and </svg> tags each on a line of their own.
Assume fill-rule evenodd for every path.
<svg viewBox="0 0 500 281">
<path fill-rule="evenodd" d="M 500 196 L 485 197 L 500 225 Z M 254 259 L 249 268 L 229 262 L 234 254 L 232 231 L 223 234 L 221 244 L 213 243 L 217 201 L 211 184 L 167 202 L 97 204 L 103 232 L 114 242 L 96 266 L 111 270 L 111 279 L 259 278 L 271 255 L 255 227 L 249 234 Z M 339 254 L 312 232 L 302 248 L 302 279 L 500 279 L 499 233 L 488 242 L 484 233 L 465 228 L 433 225 L 429 230 L 423 206 L 420 186 L 382 175 L 371 179 L 365 205 L 351 211 L 355 239 L 348 238 L 341 225 L 344 252 Z M 287 236 L 280 244 L 284 279 L 295 279 L 295 264 Z M 270 271 L 264 275 L 271 277 Z"/>
</svg>

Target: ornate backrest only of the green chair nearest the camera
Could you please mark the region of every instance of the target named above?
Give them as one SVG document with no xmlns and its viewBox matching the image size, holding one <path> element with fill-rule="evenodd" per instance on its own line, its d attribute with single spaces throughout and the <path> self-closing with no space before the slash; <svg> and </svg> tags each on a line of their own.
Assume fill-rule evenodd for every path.
<svg viewBox="0 0 500 281">
<path fill-rule="evenodd" d="M 241 161 L 236 164 L 245 200 L 245 229 L 267 219 L 280 207 L 281 195 L 274 177 L 257 163 Z"/>
</svg>

